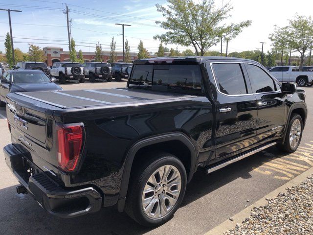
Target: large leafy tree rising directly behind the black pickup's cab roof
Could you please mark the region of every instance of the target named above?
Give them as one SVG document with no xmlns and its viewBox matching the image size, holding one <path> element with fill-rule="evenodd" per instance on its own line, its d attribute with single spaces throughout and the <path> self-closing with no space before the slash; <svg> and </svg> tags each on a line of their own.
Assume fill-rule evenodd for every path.
<svg viewBox="0 0 313 235">
<path fill-rule="evenodd" d="M 156 4 L 158 12 L 166 21 L 156 21 L 166 33 L 155 35 L 163 43 L 173 43 L 189 47 L 192 45 L 197 55 L 204 55 L 210 47 L 221 41 L 221 38 L 235 38 L 251 21 L 225 25 L 223 21 L 230 17 L 232 9 L 229 2 L 216 8 L 214 0 L 167 0 L 168 5 Z"/>
</svg>

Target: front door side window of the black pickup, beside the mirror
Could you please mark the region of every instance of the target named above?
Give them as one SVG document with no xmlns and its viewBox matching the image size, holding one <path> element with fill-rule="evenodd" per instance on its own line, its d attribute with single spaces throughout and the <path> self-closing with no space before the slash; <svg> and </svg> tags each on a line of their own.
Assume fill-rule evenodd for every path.
<svg viewBox="0 0 313 235">
<path fill-rule="evenodd" d="M 274 92 L 276 86 L 274 80 L 260 67 L 252 64 L 246 64 L 253 93 Z"/>
</svg>

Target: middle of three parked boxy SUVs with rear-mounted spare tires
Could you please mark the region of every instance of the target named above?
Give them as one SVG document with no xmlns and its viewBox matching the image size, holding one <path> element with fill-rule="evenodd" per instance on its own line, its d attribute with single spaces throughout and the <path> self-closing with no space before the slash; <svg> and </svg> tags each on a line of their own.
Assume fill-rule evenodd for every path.
<svg viewBox="0 0 313 235">
<path fill-rule="evenodd" d="M 109 63 L 88 62 L 84 64 L 84 68 L 89 82 L 95 82 L 97 78 L 112 81 L 112 68 Z"/>
</svg>

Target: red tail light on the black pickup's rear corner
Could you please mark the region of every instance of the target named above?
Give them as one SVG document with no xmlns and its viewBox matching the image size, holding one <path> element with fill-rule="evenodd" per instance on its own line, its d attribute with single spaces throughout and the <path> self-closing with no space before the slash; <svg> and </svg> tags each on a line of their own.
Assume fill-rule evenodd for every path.
<svg viewBox="0 0 313 235">
<path fill-rule="evenodd" d="M 58 164 L 64 171 L 74 171 L 83 149 L 83 123 L 56 126 L 58 136 Z"/>
</svg>

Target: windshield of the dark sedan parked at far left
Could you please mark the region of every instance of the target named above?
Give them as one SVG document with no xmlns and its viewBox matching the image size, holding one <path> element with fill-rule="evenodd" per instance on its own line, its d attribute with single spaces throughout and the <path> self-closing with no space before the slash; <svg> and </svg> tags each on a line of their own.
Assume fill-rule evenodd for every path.
<svg viewBox="0 0 313 235">
<path fill-rule="evenodd" d="M 33 82 L 51 82 L 44 72 L 14 72 L 12 73 L 13 83 L 33 83 Z"/>
</svg>

